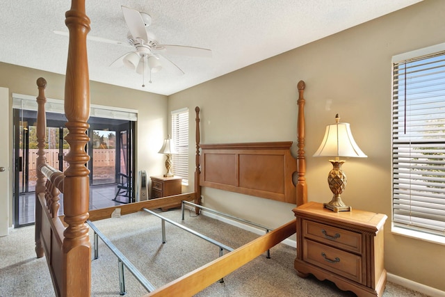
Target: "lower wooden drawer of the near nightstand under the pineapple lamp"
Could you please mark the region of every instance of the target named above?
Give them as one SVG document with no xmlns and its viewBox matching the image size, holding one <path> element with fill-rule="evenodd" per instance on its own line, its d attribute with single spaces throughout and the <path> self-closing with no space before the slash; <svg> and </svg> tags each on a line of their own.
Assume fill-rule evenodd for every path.
<svg viewBox="0 0 445 297">
<path fill-rule="evenodd" d="M 305 239 L 303 260 L 362 284 L 362 257 Z"/>
</svg>

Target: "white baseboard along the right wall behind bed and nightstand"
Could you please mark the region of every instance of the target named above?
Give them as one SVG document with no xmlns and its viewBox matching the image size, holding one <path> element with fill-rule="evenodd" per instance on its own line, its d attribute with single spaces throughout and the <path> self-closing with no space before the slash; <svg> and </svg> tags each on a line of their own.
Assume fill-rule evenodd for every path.
<svg viewBox="0 0 445 297">
<path fill-rule="evenodd" d="M 254 234 L 264 235 L 264 230 L 261 230 L 257 227 L 253 227 L 251 225 L 238 222 L 237 220 L 232 220 L 230 218 L 225 218 L 224 216 L 218 216 L 218 214 L 213 214 L 209 211 L 202 211 L 203 216 L 208 216 L 209 218 L 214 218 L 216 220 L 220 220 L 223 223 L 227 223 L 229 225 L 233 225 L 235 227 L 241 228 L 243 230 L 250 231 Z M 285 239 L 283 241 L 288 246 L 292 246 L 296 248 L 297 243 L 291 239 Z M 419 282 L 414 282 L 412 280 L 408 280 L 407 278 L 402 278 L 398 275 L 394 275 L 392 273 L 387 273 L 387 280 L 389 282 L 394 282 L 394 284 L 399 284 L 402 287 L 412 289 L 414 291 L 418 291 L 422 294 L 426 294 L 431 297 L 445 297 L 445 291 L 441 291 L 439 289 L 435 289 L 433 287 L 428 287 L 425 284 L 420 284 Z"/>
</svg>

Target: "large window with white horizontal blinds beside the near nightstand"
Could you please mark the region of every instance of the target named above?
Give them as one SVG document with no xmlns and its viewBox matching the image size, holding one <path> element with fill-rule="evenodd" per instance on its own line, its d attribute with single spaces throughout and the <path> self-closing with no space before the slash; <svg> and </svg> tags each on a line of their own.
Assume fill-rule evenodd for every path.
<svg viewBox="0 0 445 297">
<path fill-rule="evenodd" d="M 445 44 L 393 57 L 392 96 L 393 225 L 444 242 Z"/>
</svg>

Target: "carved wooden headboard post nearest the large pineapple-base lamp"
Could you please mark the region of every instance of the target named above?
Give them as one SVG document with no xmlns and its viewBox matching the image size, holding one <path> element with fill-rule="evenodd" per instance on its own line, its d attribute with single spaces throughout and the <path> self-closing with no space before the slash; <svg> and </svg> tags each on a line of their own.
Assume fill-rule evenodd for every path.
<svg viewBox="0 0 445 297">
<path fill-rule="evenodd" d="M 305 157 L 305 98 L 303 93 L 306 84 L 304 81 L 298 82 L 298 156 L 297 156 L 297 206 L 307 203 L 307 184 L 306 184 L 306 157 Z"/>
</svg>

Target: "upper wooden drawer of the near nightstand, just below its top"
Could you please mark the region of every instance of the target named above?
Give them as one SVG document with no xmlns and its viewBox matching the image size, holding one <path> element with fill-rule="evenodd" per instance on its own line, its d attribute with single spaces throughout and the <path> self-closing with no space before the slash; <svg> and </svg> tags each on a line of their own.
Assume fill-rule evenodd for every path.
<svg viewBox="0 0 445 297">
<path fill-rule="evenodd" d="M 303 220 L 303 236 L 362 254 L 362 234 L 357 232 Z"/>
</svg>

